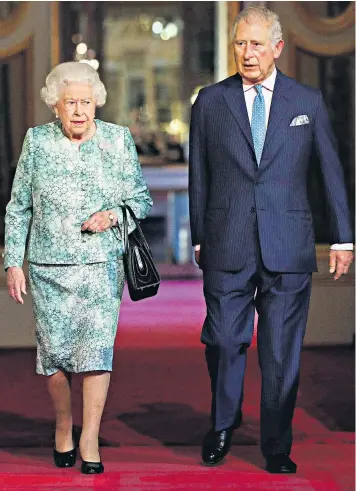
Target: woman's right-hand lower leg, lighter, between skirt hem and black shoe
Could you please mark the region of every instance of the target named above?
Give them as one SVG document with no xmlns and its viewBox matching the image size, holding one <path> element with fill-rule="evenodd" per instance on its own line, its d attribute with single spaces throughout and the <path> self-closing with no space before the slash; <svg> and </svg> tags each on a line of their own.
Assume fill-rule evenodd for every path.
<svg viewBox="0 0 356 491">
<path fill-rule="evenodd" d="M 80 437 L 80 454 L 84 461 L 99 462 L 99 430 L 110 372 L 90 372 L 83 378 L 83 428 Z"/>
</svg>

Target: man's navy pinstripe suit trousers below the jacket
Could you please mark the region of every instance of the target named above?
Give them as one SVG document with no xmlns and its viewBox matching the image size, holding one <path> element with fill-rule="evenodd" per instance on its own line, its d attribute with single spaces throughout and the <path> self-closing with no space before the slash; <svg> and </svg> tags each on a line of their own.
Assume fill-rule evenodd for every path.
<svg viewBox="0 0 356 491">
<path fill-rule="evenodd" d="M 300 353 L 307 323 L 311 273 L 272 273 L 262 262 L 257 226 L 248 261 L 240 271 L 204 270 L 207 315 L 201 340 L 211 378 L 211 416 L 216 431 L 234 424 L 243 400 L 247 349 L 258 312 L 262 373 L 261 449 L 290 453 Z"/>
</svg>

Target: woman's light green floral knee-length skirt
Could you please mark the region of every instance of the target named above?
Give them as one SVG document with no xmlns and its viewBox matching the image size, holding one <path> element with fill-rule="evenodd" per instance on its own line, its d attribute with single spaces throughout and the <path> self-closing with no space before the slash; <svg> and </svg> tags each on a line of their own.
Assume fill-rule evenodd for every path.
<svg viewBox="0 0 356 491">
<path fill-rule="evenodd" d="M 80 265 L 30 263 L 29 278 L 37 373 L 111 371 L 125 279 L 122 260 Z"/>
</svg>

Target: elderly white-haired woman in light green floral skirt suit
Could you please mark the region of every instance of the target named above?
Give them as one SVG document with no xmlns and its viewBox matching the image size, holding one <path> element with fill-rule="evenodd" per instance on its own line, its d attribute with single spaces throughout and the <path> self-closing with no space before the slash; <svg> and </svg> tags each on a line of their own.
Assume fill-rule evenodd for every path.
<svg viewBox="0 0 356 491">
<path fill-rule="evenodd" d="M 58 65 L 41 97 L 58 120 L 24 140 L 5 218 L 8 291 L 23 303 L 30 232 L 36 371 L 47 376 L 56 415 L 54 462 L 75 464 L 71 374 L 82 373 L 81 471 L 96 474 L 104 471 L 98 436 L 124 286 L 123 244 L 110 229 L 120 228 L 120 204 L 143 219 L 152 201 L 129 130 L 95 119 L 106 91 L 93 68 Z"/>
</svg>

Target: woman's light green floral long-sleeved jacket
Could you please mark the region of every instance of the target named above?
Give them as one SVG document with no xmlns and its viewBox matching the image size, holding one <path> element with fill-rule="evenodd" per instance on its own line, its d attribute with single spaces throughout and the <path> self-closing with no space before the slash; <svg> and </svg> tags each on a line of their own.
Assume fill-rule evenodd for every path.
<svg viewBox="0 0 356 491">
<path fill-rule="evenodd" d="M 81 225 L 97 211 L 127 203 L 146 217 L 152 200 L 128 128 L 95 120 L 95 136 L 78 146 L 61 123 L 30 128 L 26 134 L 5 217 L 4 267 L 83 264 L 115 260 L 122 241 L 112 230 L 92 234 Z M 32 220 L 31 220 L 32 219 Z M 129 231 L 134 226 L 130 223 Z"/>
</svg>

